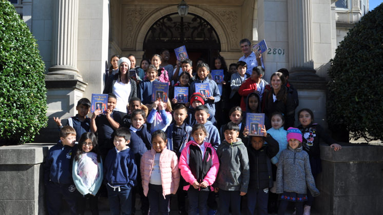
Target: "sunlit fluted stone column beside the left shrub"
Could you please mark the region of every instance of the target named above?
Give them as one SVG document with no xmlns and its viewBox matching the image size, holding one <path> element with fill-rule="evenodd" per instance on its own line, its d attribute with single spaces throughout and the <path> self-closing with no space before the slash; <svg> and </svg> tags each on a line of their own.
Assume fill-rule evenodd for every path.
<svg viewBox="0 0 383 215">
<path fill-rule="evenodd" d="M 53 7 L 52 66 L 48 75 L 82 80 L 77 66 L 78 0 L 55 0 Z"/>
</svg>

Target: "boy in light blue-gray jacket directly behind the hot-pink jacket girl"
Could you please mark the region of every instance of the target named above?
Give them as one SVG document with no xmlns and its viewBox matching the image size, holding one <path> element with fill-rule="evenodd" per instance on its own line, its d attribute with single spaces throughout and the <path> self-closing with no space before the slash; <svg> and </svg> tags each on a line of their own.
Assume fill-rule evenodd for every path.
<svg viewBox="0 0 383 215">
<path fill-rule="evenodd" d="M 206 142 L 212 144 L 212 146 L 216 149 L 221 144 L 221 140 L 219 138 L 219 131 L 216 126 L 213 125 L 212 122 L 207 121 L 209 118 L 209 109 L 205 105 L 200 105 L 196 107 L 196 113 L 194 114 L 196 118 L 196 122 L 205 126 L 206 128 Z"/>
</svg>

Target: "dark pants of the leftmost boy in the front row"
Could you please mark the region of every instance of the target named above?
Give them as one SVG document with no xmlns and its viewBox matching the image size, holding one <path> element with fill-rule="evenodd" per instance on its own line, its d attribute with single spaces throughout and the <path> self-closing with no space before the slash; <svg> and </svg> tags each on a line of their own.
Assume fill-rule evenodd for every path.
<svg viewBox="0 0 383 215">
<path fill-rule="evenodd" d="M 76 214 L 78 192 L 74 184 L 48 182 L 45 186 L 48 214 L 59 214 L 64 199 L 69 206 L 70 214 Z"/>
</svg>

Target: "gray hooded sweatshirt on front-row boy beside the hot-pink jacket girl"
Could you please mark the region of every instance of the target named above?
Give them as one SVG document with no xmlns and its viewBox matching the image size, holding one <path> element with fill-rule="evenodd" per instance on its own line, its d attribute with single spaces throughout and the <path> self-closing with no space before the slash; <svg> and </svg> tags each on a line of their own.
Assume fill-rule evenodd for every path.
<svg viewBox="0 0 383 215">
<path fill-rule="evenodd" d="M 217 149 L 219 171 L 216 183 L 226 191 L 247 192 L 250 180 L 247 149 L 241 139 L 229 144 L 224 140 Z"/>
</svg>

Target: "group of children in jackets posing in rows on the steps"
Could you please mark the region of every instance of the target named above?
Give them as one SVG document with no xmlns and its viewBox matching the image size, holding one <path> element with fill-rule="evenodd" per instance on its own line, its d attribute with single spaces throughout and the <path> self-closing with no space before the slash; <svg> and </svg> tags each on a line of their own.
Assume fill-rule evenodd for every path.
<svg viewBox="0 0 383 215">
<path fill-rule="evenodd" d="M 230 122 L 220 129 L 215 119 L 219 87 L 209 78 L 207 64 L 200 64 L 193 77 L 190 60 L 181 62 L 180 74 L 180 68 L 173 73 L 179 75 L 176 86 L 190 87 L 188 104 L 175 99 L 151 103 L 150 82 L 158 81 L 159 72 L 149 65 L 146 79 L 139 84 L 141 93 L 130 99 L 123 118 L 113 111 L 117 99 L 112 93 L 104 113 L 95 111 L 88 118 L 90 102 L 81 99 L 78 114 L 66 126 L 54 118 L 60 141 L 50 148 L 44 165 L 48 213 L 59 213 L 64 199 L 72 214 L 84 214 L 89 199 L 92 214 L 98 214 L 104 187 L 112 214 L 134 214 L 136 193 L 142 214 L 168 214 L 171 194 L 176 193 L 180 213 L 208 214 L 209 209 L 217 209 L 214 192 L 219 214 L 241 214 L 245 195 L 248 214 L 255 214 L 256 205 L 258 214 L 267 214 L 268 202 L 273 203 L 270 212 L 277 201 L 278 214 L 284 214 L 288 202 L 295 202 L 296 214 L 310 214 L 312 198 L 319 194 L 315 187 L 321 171 L 319 138 L 336 151 L 340 146 L 313 123 L 309 109 L 298 112 L 298 128 L 285 130 L 283 113 L 275 112 L 272 127 L 261 129 L 263 136 L 249 135 L 245 115 L 261 112 L 264 70 L 256 67 L 246 79 L 245 63 L 236 67 L 238 75 L 232 75 L 228 97 L 240 99 L 228 111 Z M 194 93 L 195 83 L 209 83 L 210 96 Z"/>
</svg>

